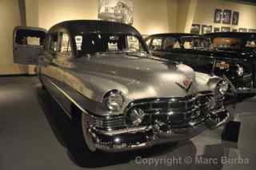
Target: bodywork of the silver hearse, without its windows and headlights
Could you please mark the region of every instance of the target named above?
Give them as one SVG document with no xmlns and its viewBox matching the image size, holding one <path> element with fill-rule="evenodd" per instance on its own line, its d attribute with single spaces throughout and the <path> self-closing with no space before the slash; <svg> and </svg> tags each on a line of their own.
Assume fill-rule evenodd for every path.
<svg viewBox="0 0 256 170">
<path fill-rule="evenodd" d="M 102 25 L 98 32 L 107 25 L 109 32 L 117 28 L 124 32 L 130 30 L 142 41 L 133 27 L 111 22 L 63 22 L 50 29 L 49 33 L 56 30 L 69 32 L 69 28 L 88 23 L 93 27 L 90 31 L 98 29 L 92 23 Z M 149 53 L 141 56 L 95 53 L 85 57 L 75 57 L 72 53 L 72 57 L 52 57 L 47 47 L 45 50 L 42 46 L 18 44 L 18 30 L 38 31 L 24 27 L 14 30 L 15 61 L 30 63 L 31 60 L 24 59 L 28 56 L 17 50 L 37 49 L 34 53 L 39 55 L 38 62 L 30 64 L 38 65 L 39 80 L 70 118 L 73 118 L 72 105 L 81 110 L 84 138 L 91 151 L 122 152 L 185 140 L 229 120 L 223 96 L 216 94 L 216 86 L 222 81 L 220 77 L 194 72 L 187 65 L 161 60 Z M 142 41 L 142 45 L 145 42 Z M 106 93 L 111 90 L 118 90 L 124 97 L 122 109 L 118 112 L 110 112 L 104 102 Z M 179 106 L 172 106 L 174 104 Z M 127 117 L 131 110 L 142 111 L 149 122 L 129 125 Z"/>
</svg>

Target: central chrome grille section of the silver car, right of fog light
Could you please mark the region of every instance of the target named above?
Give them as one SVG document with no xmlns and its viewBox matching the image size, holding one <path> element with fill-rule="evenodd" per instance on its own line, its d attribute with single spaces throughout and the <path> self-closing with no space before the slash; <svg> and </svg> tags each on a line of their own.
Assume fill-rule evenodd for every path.
<svg viewBox="0 0 256 170">
<path fill-rule="evenodd" d="M 142 110 L 146 113 L 142 125 L 152 125 L 154 121 L 161 121 L 168 125 L 183 124 L 192 118 L 200 117 L 202 108 L 200 96 L 170 97 L 134 101 L 127 108 L 126 113 L 132 110 Z"/>
</svg>

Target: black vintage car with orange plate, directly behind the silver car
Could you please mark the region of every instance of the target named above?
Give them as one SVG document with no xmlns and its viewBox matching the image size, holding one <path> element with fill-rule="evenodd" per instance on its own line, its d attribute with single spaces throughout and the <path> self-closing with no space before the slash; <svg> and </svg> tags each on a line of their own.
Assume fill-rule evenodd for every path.
<svg viewBox="0 0 256 170">
<path fill-rule="evenodd" d="M 224 49 L 210 42 L 210 38 L 214 40 L 213 35 L 154 34 L 146 38 L 146 44 L 154 56 L 225 78 L 230 83 L 230 93 L 255 93 L 255 42 L 248 48 Z"/>
</svg>

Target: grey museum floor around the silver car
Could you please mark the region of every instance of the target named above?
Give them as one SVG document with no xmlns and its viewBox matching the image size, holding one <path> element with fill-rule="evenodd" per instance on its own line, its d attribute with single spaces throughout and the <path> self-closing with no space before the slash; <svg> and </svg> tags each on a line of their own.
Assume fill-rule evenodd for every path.
<svg viewBox="0 0 256 170">
<path fill-rule="evenodd" d="M 238 144 L 220 140 L 221 129 L 218 129 L 206 131 L 179 144 L 165 144 L 139 152 L 102 154 L 102 161 L 85 160 L 82 168 L 75 164 L 70 152 L 62 146 L 58 129 L 52 125 L 52 119 L 58 114 L 62 115 L 61 110 L 48 93 L 40 89 L 37 78 L 0 77 L 0 169 L 72 170 L 90 169 L 91 164 L 95 164 L 96 169 L 255 169 L 255 105 L 256 97 L 231 109 L 239 113 L 242 121 Z M 61 122 L 60 132 L 69 132 L 66 119 L 58 118 L 55 121 Z M 236 161 L 221 164 L 220 160 L 225 156 L 234 161 L 238 158 L 249 159 L 250 163 Z M 198 157 L 219 161 L 217 164 L 184 164 L 185 160 Z M 154 161 L 162 161 L 158 161 L 158 166 L 148 166 L 146 163 L 153 158 Z M 178 158 L 182 159 L 183 164 L 176 161 L 173 162 L 176 165 L 170 167 L 169 160 Z M 87 162 L 90 162 L 90 166 L 86 166 Z"/>
</svg>

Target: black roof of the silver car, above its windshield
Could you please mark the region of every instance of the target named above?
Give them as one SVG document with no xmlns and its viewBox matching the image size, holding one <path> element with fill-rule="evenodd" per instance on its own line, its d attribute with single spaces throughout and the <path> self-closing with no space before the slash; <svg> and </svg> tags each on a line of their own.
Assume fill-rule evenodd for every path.
<svg viewBox="0 0 256 170">
<path fill-rule="evenodd" d="M 52 26 L 49 32 L 59 30 L 66 30 L 70 34 L 84 33 L 106 33 L 106 34 L 134 34 L 141 36 L 141 34 L 133 26 L 122 24 L 119 22 L 106 22 L 100 20 L 74 20 L 60 22 Z"/>
</svg>

